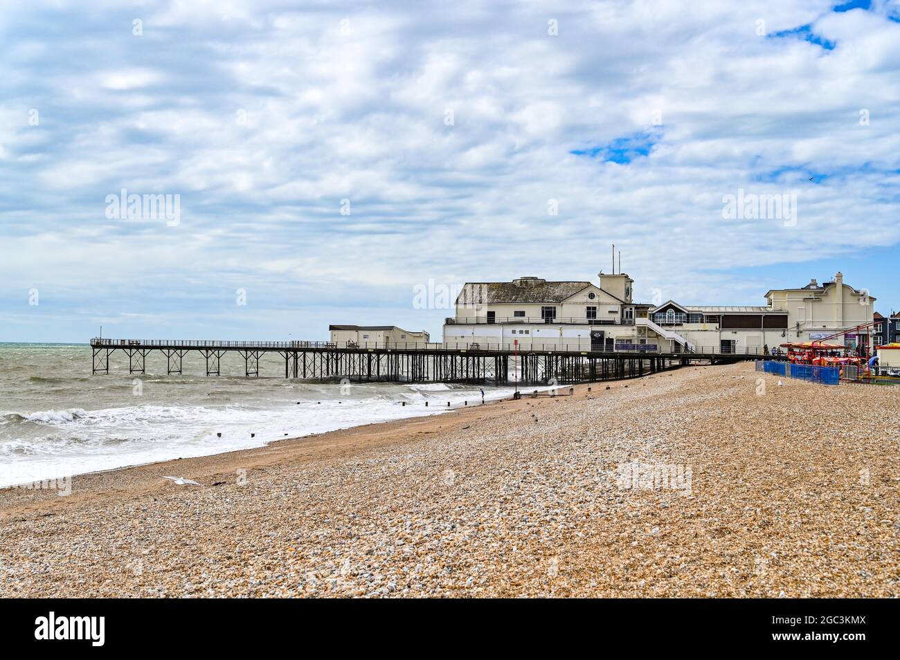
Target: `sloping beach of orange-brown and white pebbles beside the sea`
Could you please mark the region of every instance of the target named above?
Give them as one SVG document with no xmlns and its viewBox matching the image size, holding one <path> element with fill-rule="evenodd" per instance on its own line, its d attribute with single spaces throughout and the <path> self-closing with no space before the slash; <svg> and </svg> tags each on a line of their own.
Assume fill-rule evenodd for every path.
<svg viewBox="0 0 900 660">
<path fill-rule="evenodd" d="M 900 389 L 760 378 L 683 368 L 5 489 L 0 596 L 900 595 Z"/>
</svg>

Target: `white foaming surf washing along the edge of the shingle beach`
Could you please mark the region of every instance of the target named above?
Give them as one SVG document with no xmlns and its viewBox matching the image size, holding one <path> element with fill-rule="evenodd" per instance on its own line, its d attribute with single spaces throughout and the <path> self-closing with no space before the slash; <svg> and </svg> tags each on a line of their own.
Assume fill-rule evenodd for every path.
<svg viewBox="0 0 900 660">
<path fill-rule="evenodd" d="M 239 387 L 241 394 L 249 390 L 252 395 L 253 388 L 264 386 L 242 381 L 232 387 Z M 224 392 L 231 398 L 235 394 Z M 38 424 L 40 433 L 25 433 L 10 429 L 14 424 L 4 425 L 4 432 L 0 433 L 0 486 L 260 447 L 287 437 L 402 417 L 437 415 L 446 412 L 448 401 L 452 409 L 464 401 L 472 405 L 481 400 L 478 388 L 441 383 L 353 386 L 349 392 L 335 384 L 300 384 L 293 392 L 292 401 L 282 398 L 271 403 L 257 394 L 253 401 L 245 402 L 245 397 L 239 397 L 240 403 L 226 405 L 147 403 L 4 415 L 18 415 Z M 210 394 L 208 389 L 207 400 Z M 487 398 L 507 395 L 509 389 L 491 388 Z M 426 400 L 429 406 L 424 405 Z"/>
</svg>

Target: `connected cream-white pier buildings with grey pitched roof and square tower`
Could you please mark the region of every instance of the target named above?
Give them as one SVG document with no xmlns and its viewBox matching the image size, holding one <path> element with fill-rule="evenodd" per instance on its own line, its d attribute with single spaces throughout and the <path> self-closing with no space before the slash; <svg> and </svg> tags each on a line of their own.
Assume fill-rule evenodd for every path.
<svg viewBox="0 0 900 660">
<path fill-rule="evenodd" d="M 489 348 L 518 343 L 522 350 L 558 345 L 567 350 L 628 352 L 762 352 L 806 342 L 873 319 L 874 298 L 843 282 L 815 280 L 797 289 L 770 290 L 764 306 L 635 303 L 626 273 L 599 273 L 599 283 L 520 277 L 466 282 L 446 318 L 444 342 Z M 848 334 L 870 344 L 869 329 Z"/>
</svg>

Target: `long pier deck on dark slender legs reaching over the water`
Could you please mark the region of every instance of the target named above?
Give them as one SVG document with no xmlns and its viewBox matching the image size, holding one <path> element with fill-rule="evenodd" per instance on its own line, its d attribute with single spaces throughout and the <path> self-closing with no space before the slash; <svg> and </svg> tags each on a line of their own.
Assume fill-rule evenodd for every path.
<svg viewBox="0 0 900 660">
<path fill-rule="evenodd" d="M 565 344 L 232 342 L 216 340 L 91 340 L 92 373 L 108 374 L 110 357 L 121 351 L 130 374 L 147 373 L 147 357 L 160 352 L 166 374 L 182 375 L 189 352 L 205 361 L 207 376 L 220 376 L 222 360 L 237 354 L 247 378 L 259 377 L 259 360 L 275 353 L 284 360 L 285 379 L 348 379 L 351 382 L 448 382 L 496 385 L 568 385 L 638 378 L 691 363 L 752 360 L 757 353 L 598 352 Z M 239 362 L 238 362 L 239 364 Z M 272 374 L 275 376 L 275 374 Z"/>
</svg>

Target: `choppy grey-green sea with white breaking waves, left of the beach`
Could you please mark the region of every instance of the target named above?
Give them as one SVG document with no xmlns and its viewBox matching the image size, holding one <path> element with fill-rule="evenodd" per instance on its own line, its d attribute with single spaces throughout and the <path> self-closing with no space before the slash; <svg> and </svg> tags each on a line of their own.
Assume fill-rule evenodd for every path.
<svg viewBox="0 0 900 660">
<path fill-rule="evenodd" d="M 129 374 L 122 352 L 112 353 L 108 375 L 92 375 L 91 361 L 86 344 L 0 343 L 0 487 L 481 402 L 481 387 L 473 385 L 284 379 L 277 355 L 260 358 L 259 378 L 245 377 L 237 353 L 224 356 L 221 375 L 210 377 L 197 352 L 185 355 L 183 374 L 173 376 L 160 352 L 148 355 L 146 375 Z M 513 390 L 484 391 L 491 400 Z"/>
</svg>

